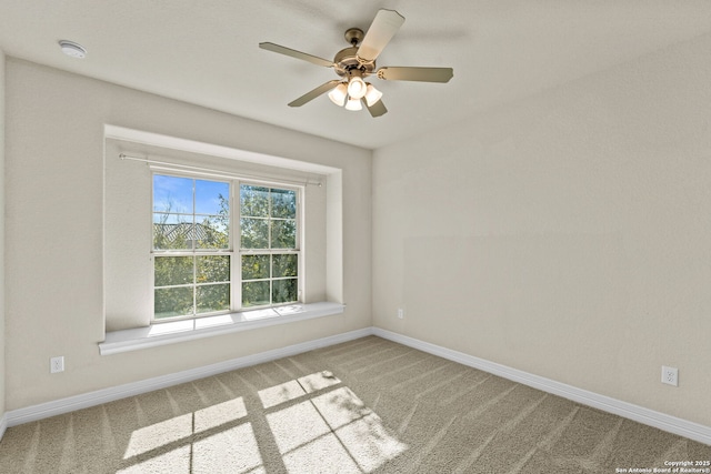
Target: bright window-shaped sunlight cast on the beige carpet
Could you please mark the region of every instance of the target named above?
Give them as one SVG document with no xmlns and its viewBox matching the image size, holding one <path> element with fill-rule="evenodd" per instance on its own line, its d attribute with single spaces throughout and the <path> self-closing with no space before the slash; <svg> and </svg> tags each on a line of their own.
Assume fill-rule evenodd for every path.
<svg viewBox="0 0 711 474">
<path fill-rule="evenodd" d="M 408 450 L 329 371 L 263 389 L 258 399 L 263 409 L 248 412 L 240 396 L 133 431 L 118 472 L 260 474 L 271 451 L 289 473 L 370 473 Z M 264 421 L 269 433 L 256 432 Z"/>
</svg>

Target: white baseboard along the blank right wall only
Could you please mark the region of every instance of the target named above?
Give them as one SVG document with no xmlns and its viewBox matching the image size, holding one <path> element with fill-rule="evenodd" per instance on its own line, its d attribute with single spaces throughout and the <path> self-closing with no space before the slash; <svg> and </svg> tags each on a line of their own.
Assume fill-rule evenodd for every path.
<svg viewBox="0 0 711 474">
<path fill-rule="evenodd" d="M 542 390 L 543 392 L 562 396 L 563 399 L 568 399 L 583 405 L 592 406 L 669 433 L 674 433 L 680 436 L 711 445 L 711 427 L 709 426 L 689 422 L 687 420 L 678 418 L 675 416 L 667 415 L 632 403 L 611 399 L 609 396 L 599 395 L 587 390 L 577 389 L 564 383 L 533 375 L 517 369 L 511 369 L 484 359 L 474 357 L 473 355 L 452 351 L 447 347 L 430 344 L 391 331 L 373 327 L 372 334 L 470 367 L 499 375 L 503 379 L 508 379 L 523 385 Z"/>
</svg>

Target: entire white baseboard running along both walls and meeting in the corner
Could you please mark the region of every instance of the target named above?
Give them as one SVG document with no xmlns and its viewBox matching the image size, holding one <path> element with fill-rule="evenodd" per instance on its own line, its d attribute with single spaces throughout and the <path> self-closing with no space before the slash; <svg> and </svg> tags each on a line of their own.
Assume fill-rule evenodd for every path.
<svg viewBox="0 0 711 474">
<path fill-rule="evenodd" d="M 247 355 L 217 364 L 206 365 L 203 367 L 192 369 L 178 372 L 174 374 L 162 375 L 144 381 L 132 382 L 109 389 L 99 390 L 81 395 L 69 396 L 39 405 L 28 406 L 24 409 L 12 410 L 4 413 L 0 417 L 0 440 L 6 428 L 22 423 L 29 423 L 42 420 L 49 416 L 69 413 L 76 410 L 96 406 L 102 403 L 112 402 L 124 399 L 127 396 L 140 395 L 142 393 L 154 390 L 166 389 L 168 386 L 180 383 L 191 382 L 193 380 L 229 372 L 236 369 L 242 369 L 263 362 L 273 361 L 281 357 L 300 354 L 312 351 L 314 349 L 326 347 L 342 342 L 352 341 L 368 335 L 377 335 L 422 352 L 427 352 L 440 357 L 458 362 L 470 367 L 479 369 L 491 374 L 509 379 L 513 382 L 522 383 L 544 392 L 562 396 L 583 405 L 592 406 L 608 413 L 623 416 L 649 426 L 678 434 L 690 440 L 698 441 L 711 445 L 711 427 L 698 423 L 681 420 L 675 416 L 644 409 L 631 403 L 622 402 L 609 396 L 599 395 L 582 389 L 577 389 L 564 383 L 555 382 L 550 379 L 533 375 L 528 372 L 511 369 L 505 365 L 497 364 L 484 359 L 474 357 L 458 351 L 452 351 L 435 344 L 430 344 L 413 337 L 401 335 L 391 331 L 379 327 L 365 327 L 358 331 L 351 331 L 343 334 L 337 334 L 314 341 L 308 341 L 287 347 L 276 349 L 272 351 L 260 352 L 258 354 Z"/>
</svg>

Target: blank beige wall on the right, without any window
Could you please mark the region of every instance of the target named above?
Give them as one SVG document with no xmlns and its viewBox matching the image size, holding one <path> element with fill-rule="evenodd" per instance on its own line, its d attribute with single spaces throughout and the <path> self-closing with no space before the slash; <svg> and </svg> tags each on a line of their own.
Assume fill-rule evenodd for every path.
<svg viewBox="0 0 711 474">
<path fill-rule="evenodd" d="M 374 325 L 711 425 L 709 50 L 375 151 Z"/>
</svg>

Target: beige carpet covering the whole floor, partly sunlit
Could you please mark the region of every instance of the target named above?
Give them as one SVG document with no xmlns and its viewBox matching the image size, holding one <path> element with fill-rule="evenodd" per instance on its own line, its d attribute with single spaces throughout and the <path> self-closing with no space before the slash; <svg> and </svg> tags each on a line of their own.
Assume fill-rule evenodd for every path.
<svg viewBox="0 0 711 474">
<path fill-rule="evenodd" d="M 615 473 L 711 447 L 370 336 L 14 426 L 2 473 Z"/>
</svg>

